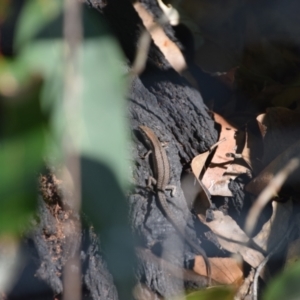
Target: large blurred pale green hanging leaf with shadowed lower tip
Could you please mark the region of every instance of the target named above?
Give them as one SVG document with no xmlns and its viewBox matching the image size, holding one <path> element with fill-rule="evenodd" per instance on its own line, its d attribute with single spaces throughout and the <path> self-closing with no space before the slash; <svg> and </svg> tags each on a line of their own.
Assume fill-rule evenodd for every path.
<svg viewBox="0 0 300 300">
<path fill-rule="evenodd" d="M 27 38 L 29 34 L 25 34 L 21 27 L 27 20 L 29 23 L 32 21 L 26 14 L 21 20 L 18 36 Z M 53 20 L 49 22 L 53 23 Z M 30 33 L 31 38 L 33 32 Z M 102 250 L 115 283 L 123 298 L 128 299 L 134 278 L 134 255 L 123 193 L 128 188 L 129 177 L 124 58 L 99 14 L 84 9 L 84 39 L 78 49 L 77 61 L 79 78 L 74 82 L 78 88 L 80 109 L 75 110 L 71 123 L 68 123 L 63 99 L 63 50 L 66 45 L 59 35 L 48 33 L 49 30 L 44 29 L 30 43 L 19 42 L 21 47 L 18 49 L 20 58 L 30 66 L 31 73 L 43 78 L 41 104 L 50 113 L 51 119 L 51 136 L 48 139 L 51 149 L 48 153 L 60 155 L 65 133 L 70 132 L 72 144 L 83 158 L 83 212 L 100 233 Z M 51 152 L 54 148 L 55 154 Z"/>
</svg>

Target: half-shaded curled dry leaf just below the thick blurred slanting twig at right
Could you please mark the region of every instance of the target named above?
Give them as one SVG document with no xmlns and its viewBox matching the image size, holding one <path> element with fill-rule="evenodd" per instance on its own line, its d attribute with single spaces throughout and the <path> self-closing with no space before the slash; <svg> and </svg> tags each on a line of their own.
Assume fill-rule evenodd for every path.
<svg viewBox="0 0 300 300">
<path fill-rule="evenodd" d="M 288 229 L 293 212 L 292 200 L 286 203 L 272 202 L 273 213 L 253 241 L 264 251 L 269 252 L 281 241 Z"/>
</svg>

